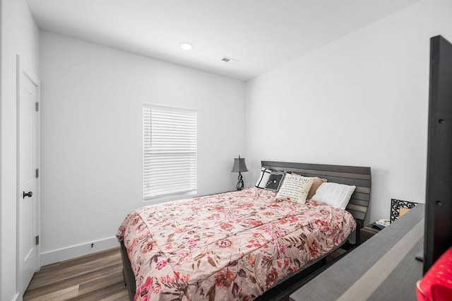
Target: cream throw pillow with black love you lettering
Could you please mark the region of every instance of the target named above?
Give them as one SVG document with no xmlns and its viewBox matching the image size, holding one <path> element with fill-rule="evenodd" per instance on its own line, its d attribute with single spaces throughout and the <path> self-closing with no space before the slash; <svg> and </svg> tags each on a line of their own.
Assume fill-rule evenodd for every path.
<svg viewBox="0 0 452 301">
<path fill-rule="evenodd" d="M 314 182 L 312 177 L 300 175 L 286 175 L 277 198 L 288 197 L 297 203 L 306 203 L 309 189 Z"/>
</svg>

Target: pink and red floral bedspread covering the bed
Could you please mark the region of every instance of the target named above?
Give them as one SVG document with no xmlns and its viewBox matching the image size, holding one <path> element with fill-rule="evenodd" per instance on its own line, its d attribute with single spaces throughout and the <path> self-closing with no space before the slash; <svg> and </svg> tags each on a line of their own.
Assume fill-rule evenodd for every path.
<svg viewBox="0 0 452 301">
<path fill-rule="evenodd" d="M 355 230 L 347 211 L 242 191 L 160 203 L 119 228 L 135 300 L 253 300 Z"/>
</svg>

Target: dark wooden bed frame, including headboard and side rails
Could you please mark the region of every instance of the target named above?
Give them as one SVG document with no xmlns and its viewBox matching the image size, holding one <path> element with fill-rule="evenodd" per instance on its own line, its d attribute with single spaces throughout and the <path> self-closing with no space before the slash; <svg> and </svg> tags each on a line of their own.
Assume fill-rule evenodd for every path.
<svg viewBox="0 0 452 301">
<path fill-rule="evenodd" d="M 370 188 L 371 188 L 371 171 L 370 167 L 357 166 L 343 166 L 343 165 L 323 165 L 323 164 L 309 164 L 309 163 L 287 163 L 276 161 L 261 161 L 262 167 L 269 170 L 278 170 L 285 172 L 295 172 L 299 175 L 307 177 L 321 177 L 328 179 L 328 182 L 335 182 L 339 184 L 355 185 L 355 192 L 347 205 L 346 210 L 352 213 L 357 223 L 357 230 L 355 231 L 355 246 L 359 244 L 359 230 L 364 227 L 364 220 L 367 215 L 367 208 L 370 202 Z M 135 276 L 131 269 L 129 257 L 127 256 L 124 242 L 121 241 L 121 259 L 124 274 L 124 283 L 129 292 L 129 300 L 133 300 L 136 292 Z M 350 248 L 347 248 L 350 251 Z M 330 264 L 326 264 L 326 257 L 311 264 L 297 275 L 292 276 L 283 283 L 276 285 L 274 288 L 266 291 L 256 300 L 289 300 L 288 296 L 293 291 L 297 290 L 304 283 L 307 283 L 311 278 L 321 273 Z"/>
</svg>

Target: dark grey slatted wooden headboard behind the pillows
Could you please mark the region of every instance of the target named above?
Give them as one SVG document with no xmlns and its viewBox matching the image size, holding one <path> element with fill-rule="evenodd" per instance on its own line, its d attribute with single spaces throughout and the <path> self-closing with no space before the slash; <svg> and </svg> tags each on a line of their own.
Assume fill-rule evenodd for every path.
<svg viewBox="0 0 452 301">
<path fill-rule="evenodd" d="M 309 163 L 288 163 L 275 161 L 261 161 L 262 167 L 269 170 L 295 172 L 306 177 L 321 177 L 328 182 L 355 185 L 346 210 L 352 213 L 357 221 L 358 229 L 364 227 L 367 208 L 370 202 L 371 173 L 370 167 L 324 165 Z"/>
</svg>

